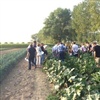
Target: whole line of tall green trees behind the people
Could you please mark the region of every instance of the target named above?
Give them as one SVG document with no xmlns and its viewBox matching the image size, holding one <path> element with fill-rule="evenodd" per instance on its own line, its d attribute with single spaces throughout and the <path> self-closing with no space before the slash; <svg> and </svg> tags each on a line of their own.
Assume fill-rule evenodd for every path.
<svg viewBox="0 0 100 100">
<path fill-rule="evenodd" d="M 94 41 L 100 43 L 100 0 L 84 0 L 70 9 L 57 8 L 44 21 L 44 27 L 31 36 L 43 43 Z"/>
</svg>

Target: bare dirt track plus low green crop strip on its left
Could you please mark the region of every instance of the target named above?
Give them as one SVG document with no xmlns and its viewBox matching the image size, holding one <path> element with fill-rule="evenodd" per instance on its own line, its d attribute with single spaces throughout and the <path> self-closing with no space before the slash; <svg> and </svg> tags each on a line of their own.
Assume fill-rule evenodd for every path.
<svg viewBox="0 0 100 100">
<path fill-rule="evenodd" d="M 25 56 L 26 48 L 1 51 L 0 100 L 46 100 L 50 94 L 51 87 L 42 68 L 34 70 L 32 66 L 29 71 Z"/>
</svg>

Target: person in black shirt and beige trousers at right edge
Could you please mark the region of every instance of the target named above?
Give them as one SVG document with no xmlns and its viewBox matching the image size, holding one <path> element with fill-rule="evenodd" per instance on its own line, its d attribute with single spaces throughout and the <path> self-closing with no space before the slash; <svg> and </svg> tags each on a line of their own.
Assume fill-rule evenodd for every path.
<svg viewBox="0 0 100 100">
<path fill-rule="evenodd" d="M 100 45 L 97 45 L 97 42 L 93 42 L 93 56 L 97 67 L 100 67 Z"/>
</svg>

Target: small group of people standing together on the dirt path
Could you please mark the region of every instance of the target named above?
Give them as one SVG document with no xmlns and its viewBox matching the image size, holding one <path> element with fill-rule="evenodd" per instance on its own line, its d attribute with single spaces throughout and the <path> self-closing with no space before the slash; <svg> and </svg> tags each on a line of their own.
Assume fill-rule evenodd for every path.
<svg viewBox="0 0 100 100">
<path fill-rule="evenodd" d="M 31 70 L 31 66 L 42 67 L 42 64 L 45 60 L 45 56 L 48 54 L 46 46 L 43 43 L 37 43 L 36 41 L 31 42 L 27 47 L 27 56 L 25 59 L 28 59 L 29 66 L 28 69 Z"/>
</svg>

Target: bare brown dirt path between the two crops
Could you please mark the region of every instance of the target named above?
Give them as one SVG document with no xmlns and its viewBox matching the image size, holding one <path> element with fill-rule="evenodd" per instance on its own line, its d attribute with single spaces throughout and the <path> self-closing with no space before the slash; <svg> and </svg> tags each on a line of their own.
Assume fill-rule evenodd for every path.
<svg viewBox="0 0 100 100">
<path fill-rule="evenodd" d="M 12 69 L 0 88 L 0 100 L 46 100 L 51 91 L 42 68 L 28 70 L 24 59 Z"/>
</svg>

